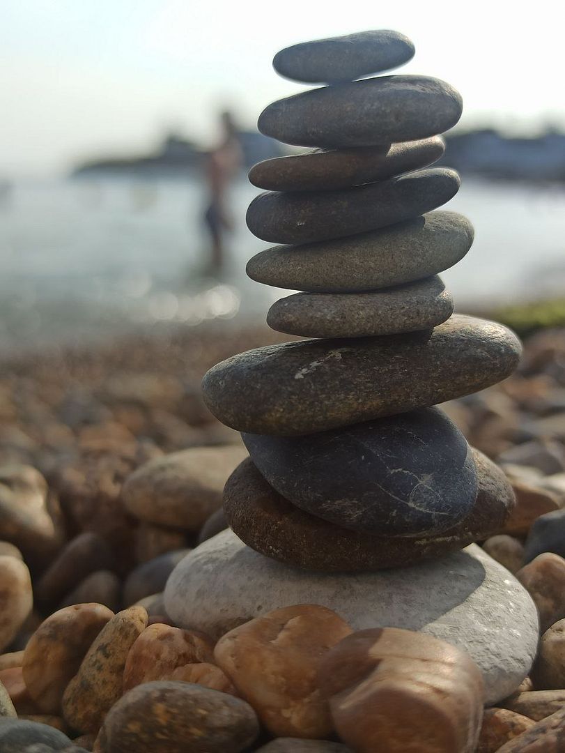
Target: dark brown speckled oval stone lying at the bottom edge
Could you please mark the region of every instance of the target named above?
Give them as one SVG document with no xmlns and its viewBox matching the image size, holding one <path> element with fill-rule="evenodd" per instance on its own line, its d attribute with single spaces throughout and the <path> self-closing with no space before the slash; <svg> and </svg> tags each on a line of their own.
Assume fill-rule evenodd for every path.
<svg viewBox="0 0 565 753">
<path fill-rule="evenodd" d="M 187 682 L 147 682 L 108 713 L 102 753 L 238 753 L 259 734 L 254 710 L 226 693 Z"/>
</svg>

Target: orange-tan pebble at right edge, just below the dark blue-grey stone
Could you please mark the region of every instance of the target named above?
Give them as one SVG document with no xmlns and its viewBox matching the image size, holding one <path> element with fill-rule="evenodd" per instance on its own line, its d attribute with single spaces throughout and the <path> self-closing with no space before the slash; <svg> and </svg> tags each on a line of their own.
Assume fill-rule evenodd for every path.
<svg viewBox="0 0 565 753">
<path fill-rule="evenodd" d="M 542 633 L 565 617 L 565 559 L 558 554 L 539 554 L 518 570 L 516 578 L 530 593 L 539 612 Z"/>
</svg>

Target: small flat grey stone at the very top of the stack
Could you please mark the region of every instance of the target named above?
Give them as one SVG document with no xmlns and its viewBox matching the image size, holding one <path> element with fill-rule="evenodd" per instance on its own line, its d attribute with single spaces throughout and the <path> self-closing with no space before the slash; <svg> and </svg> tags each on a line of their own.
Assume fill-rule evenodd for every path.
<svg viewBox="0 0 565 753">
<path fill-rule="evenodd" d="M 415 47 L 400 32 L 388 29 L 316 39 L 285 47 L 275 55 L 275 71 L 307 84 L 354 81 L 390 71 L 414 57 Z"/>
</svg>

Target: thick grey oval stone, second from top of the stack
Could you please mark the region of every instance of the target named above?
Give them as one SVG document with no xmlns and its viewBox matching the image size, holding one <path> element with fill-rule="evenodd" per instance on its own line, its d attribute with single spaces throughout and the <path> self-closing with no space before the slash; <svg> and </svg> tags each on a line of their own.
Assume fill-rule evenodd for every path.
<svg viewBox="0 0 565 753">
<path fill-rule="evenodd" d="M 443 133 L 462 111 L 460 94 L 439 78 L 379 76 L 279 99 L 257 127 L 297 146 L 372 146 Z"/>
</svg>

